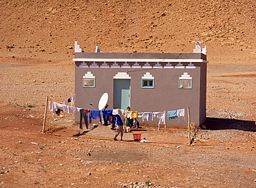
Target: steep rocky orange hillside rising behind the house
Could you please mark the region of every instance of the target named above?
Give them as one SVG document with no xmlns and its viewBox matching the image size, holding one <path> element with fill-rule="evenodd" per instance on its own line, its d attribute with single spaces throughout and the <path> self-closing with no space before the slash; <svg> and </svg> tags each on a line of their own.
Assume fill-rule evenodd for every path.
<svg viewBox="0 0 256 188">
<path fill-rule="evenodd" d="M 72 61 L 84 52 L 192 52 L 212 62 L 255 59 L 255 0 L 0 1 L 0 56 Z"/>
</svg>

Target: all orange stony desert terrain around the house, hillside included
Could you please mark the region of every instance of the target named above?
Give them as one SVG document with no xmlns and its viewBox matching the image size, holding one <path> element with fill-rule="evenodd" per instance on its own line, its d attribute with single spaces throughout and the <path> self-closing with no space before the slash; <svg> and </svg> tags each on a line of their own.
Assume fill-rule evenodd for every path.
<svg viewBox="0 0 256 188">
<path fill-rule="evenodd" d="M 0 1 L 0 187 L 256 187 L 254 0 Z M 78 129 L 46 96 L 74 94 L 84 52 L 193 52 L 207 45 L 207 120 L 185 129 Z M 149 143 L 138 143 L 141 133 Z"/>
</svg>

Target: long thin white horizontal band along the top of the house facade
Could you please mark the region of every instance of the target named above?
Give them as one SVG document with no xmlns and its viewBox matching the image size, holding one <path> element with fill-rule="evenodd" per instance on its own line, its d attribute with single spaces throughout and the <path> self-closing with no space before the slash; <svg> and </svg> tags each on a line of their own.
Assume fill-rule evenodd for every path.
<svg viewBox="0 0 256 188">
<path fill-rule="evenodd" d="M 86 58 L 74 58 L 73 61 L 95 61 L 95 62 L 164 62 L 164 63 L 209 63 L 203 59 L 86 59 Z"/>
</svg>

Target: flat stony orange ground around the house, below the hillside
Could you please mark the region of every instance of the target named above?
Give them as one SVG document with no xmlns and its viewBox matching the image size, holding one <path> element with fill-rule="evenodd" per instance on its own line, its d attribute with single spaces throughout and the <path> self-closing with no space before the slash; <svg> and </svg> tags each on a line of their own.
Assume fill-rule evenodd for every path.
<svg viewBox="0 0 256 188">
<path fill-rule="evenodd" d="M 114 141 L 110 127 L 80 130 L 72 114 L 48 113 L 46 124 L 64 129 L 39 134 L 46 94 L 57 102 L 73 94 L 73 63 L 2 57 L 0 187 L 255 187 L 254 66 L 209 63 L 206 129 L 188 145 L 186 130 L 152 127 Z"/>
</svg>

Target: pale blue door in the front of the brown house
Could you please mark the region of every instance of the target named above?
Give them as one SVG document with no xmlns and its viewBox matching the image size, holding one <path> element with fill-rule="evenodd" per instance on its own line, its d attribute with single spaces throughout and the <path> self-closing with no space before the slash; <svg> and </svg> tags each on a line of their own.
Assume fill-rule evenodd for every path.
<svg viewBox="0 0 256 188">
<path fill-rule="evenodd" d="M 126 109 L 130 105 L 130 80 L 113 80 L 113 108 Z"/>
</svg>

